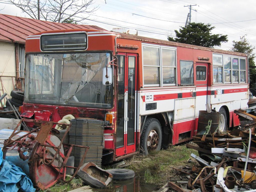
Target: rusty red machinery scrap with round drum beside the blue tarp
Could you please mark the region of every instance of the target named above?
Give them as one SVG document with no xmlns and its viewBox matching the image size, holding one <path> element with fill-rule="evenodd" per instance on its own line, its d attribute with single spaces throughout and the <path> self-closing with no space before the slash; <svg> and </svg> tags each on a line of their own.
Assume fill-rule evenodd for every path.
<svg viewBox="0 0 256 192">
<path fill-rule="evenodd" d="M 33 131 L 17 131 L 18 126 L 24 122 L 35 123 L 38 128 Z M 56 136 L 59 131 L 53 128 L 56 124 L 68 126 L 62 140 Z M 63 143 L 69 128 L 70 124 L 21 119 L 14 131 L 0 130 L 3 159 L 8 159 L 17 166 L 23 164 L 21 168 L 31 178 L 34 187 L 38 189 L 45 190 L 59 180 L 68 183 L 77 174 L 89 149 L 87 146 Z M 78 167 L 74 167 L 73 158 L 69 162 L 69 156 L 75 146 L 86 149 Z M 65 180 L 68 172 L 73 175 L 71 179 Z"/>
</svg>

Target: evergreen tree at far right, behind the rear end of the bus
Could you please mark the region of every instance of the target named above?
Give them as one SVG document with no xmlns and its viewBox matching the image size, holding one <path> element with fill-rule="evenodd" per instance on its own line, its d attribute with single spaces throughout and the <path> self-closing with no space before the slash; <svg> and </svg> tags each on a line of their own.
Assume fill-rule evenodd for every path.
<svg viewBox="0 0 256 192">
<path fill-rule="evenodd" d="M 253 50 L 255 47 L 252 47 L 250 43 L 247 41 L 247 39 L 242 36 L 240 37 L 240 41 L 232 41 L 233 48 L 230 49 L 230 51 L 245 53 L 248 55 L 249 60 L 249 66 L 255 66 L 254 58 L 255 54 L 253 53 Z M 250 88 L 254 88 L 254 83 L 256 82 L 256 69 L 250 68 Z"/>
</svg>

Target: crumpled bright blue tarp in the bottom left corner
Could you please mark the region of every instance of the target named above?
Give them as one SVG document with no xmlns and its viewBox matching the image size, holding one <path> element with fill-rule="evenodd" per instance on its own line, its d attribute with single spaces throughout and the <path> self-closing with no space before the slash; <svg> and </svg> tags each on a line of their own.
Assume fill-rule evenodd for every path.
<svg viewBox="0 0 256 192">
<path fill-rule="evenodd" d="M 3 159 L 3 152 L 0 147 L 0 192 L 27 191 L 35 192 L 36 189 L 30 178 L 12 162 Z"/>
</svg>

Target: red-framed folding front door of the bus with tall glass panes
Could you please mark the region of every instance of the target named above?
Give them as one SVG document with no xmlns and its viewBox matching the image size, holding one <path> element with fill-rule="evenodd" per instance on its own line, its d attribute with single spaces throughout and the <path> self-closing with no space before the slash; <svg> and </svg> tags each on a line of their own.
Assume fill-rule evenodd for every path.
<svg viewBox="0 0 256 192">
<path fill-rule="evenodd" d="M 135 152 L 136 54 L 118 54 L 116 156 Z"/>
</svg>

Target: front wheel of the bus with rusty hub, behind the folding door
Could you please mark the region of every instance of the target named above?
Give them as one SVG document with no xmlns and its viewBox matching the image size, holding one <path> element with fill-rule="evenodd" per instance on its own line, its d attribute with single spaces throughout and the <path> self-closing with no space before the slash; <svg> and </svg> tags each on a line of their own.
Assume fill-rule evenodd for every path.
<svg viewBox="0 0 256 192">
<path fill-rule="evenodd" d="M 141 147 L 143 154 L 148 155 L 151 151 L 160 151 L 162 145 L 162 129 L 159 121 L 147 118 L 141 134 Z"/>
</svg>

